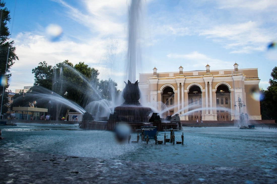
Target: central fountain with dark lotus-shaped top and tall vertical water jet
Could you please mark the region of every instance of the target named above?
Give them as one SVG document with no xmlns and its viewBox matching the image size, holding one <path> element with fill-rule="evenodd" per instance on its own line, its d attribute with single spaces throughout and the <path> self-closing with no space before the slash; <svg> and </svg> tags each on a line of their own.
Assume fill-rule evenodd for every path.
<svg viewBox="0 0 277 184">
<path fill-rule="evenodd" d="M 140 90 L 139 82 L 135 81 L 136 78 L 136 66 L 140 61 L 140 18 L 141 15 L 141 1 L 131 1 L 129 7 L 129 38 L 128 38 L 128 54 L 127 54 L 127 77 L 128 82 L 122 91 L 122 96 L 124 98 L 124 103 L 120 106 L 114 108 L 114 111 L 110 111 L 109 119 L 107 122 L 96 121 L 93 115 L 85 115 L 84 120 L 79 122 L 79 127 L 85 129 L 100 129 L 100 125 L 106 125 L 105 130 L 114 130 L 116 125 L 120 123 L 128 124 L 131 130 L 139 130 L 141 127 L 152 127 L 157 126 L 158 130 L 170 129 L 179 130 L 181 127 L 180 119 L 174 122 L 161 122 L 158 113 L 153 113 L 154 111 L 150 107 L 143 106 L 140 104 Z M 134 82 L 134 83 L 132 83 Z M 113 109 L 113 108 L 111 108 Z M 150 114 L 152 114 L 150 118 Z M 178 115 L 176 115 L 178 116 Z M 94 126 L 99 124 L 99 126 Z"/>
</svg>

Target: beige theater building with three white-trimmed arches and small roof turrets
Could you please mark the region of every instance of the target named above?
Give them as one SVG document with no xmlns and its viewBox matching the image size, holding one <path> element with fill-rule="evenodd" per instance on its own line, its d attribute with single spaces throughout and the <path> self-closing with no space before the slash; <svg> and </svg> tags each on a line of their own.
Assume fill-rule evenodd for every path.
<svg viewBox="0 0 277 184">
<path fill-rule="evenodd" d="M 177 70 L 178 71 L 178 70 Z M 261 120 L 258 69 L 140 73 L 141 101 L 161 117 L 179 114 L 181 120 L 235 120 L 240 113 Z"/>
</svg>

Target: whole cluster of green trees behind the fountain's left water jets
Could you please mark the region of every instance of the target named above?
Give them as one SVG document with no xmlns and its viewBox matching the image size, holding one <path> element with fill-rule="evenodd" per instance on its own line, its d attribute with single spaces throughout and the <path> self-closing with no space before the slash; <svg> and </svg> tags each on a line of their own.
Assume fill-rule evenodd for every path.
<svg viewBox="0 0 277 184">
<path fill-rule="evenodd" d="M 68 60 L 65 60 L 52 67 L 43 61 L 32 70 L 32 73 L 35 74 L 35 86 L 50 89 L 81 107 L 85 107 L 89 102 L 99 99 L 116 99 L 120 93 L 116 82 L 111 79 L 99 82 L 98 70 L 89 67 L 84 62 L 73 65 Z M 36 93 L 35 91 L 33 92 Z M 36 99 L 32 100 L 35 101 Z M 43 106 L 39 101 L 36 105 L 37 107 Z M 48 108 L 49 104 L 45 106 Z M 52 110 L 51 113 L 52 117 L 56 116 L 56 118 L 58 118 L 58 114 L 65 115 L 65 112 L 68 110 L 68 107 L 59 105 L 59 102 L 55 102 L 55 100 L 51 102 L 49 107 L 51 109 L 58 109 L 56 112 Z"/>
</svg>

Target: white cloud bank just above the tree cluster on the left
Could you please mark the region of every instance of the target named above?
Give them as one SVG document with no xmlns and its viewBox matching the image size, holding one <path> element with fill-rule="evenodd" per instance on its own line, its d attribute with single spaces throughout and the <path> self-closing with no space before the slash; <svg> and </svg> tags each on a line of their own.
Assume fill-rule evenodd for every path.
<svg viewBox="0 0 277 184">
<path fill-rule="evenodd" d="M 27 84 L 33 85 L 34 75 L 31 71 L 42 61 L 54 66 L 68 59 L 73 64 L 85 62 L 89 67 L 98 69 L 100 72 L 99 77 L 112 77 L 111 75 L 106 75 L 107 71 L 110 71 L 109 73 L 114 76 L 122 75 L 122 71 L 119 70 L 111 72 L 111 67 L 119 68 L 119 66 L 111 65 L 112 61 L 108 62 L 107 60 L 109 60 L 109 57 L 111 57 L 110 60 L 119 59 L 118 57 L 125 52 L 125 40 L 117 40 L 116 44 L 112 43 L 114 40 L 109 38 L 89 38 L 82 43 L 70 40 L 51 42 L 46 36 L 35 35 L 30 32 L 20 33 L 14 40 L 19 61 L 15 62 L 11 70 L 12 77 L 9 81 L 9 88 L 13 91 L 14 89 L 21 89 Z M 120 61 L 118 64 L 120 64 Z M 17 78 L 17 81 L 14 80 L 15 78 Z M 107 78 L 100 79 L 105 80 Z M 24 82 L 25 84 L 18 88 Z"/>
</svg>

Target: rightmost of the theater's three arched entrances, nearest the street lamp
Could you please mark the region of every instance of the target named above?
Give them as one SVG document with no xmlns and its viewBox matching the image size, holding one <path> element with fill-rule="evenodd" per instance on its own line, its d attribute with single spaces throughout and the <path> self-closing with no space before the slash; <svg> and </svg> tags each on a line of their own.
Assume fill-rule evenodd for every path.
<svg viewBox="0 0 277 184">
<path fill-rule="evenodd" d="M 231 120 L 231 101 L 229 88 L 222 84 L 216 89 L 217 120 Z"/>
</svg>

